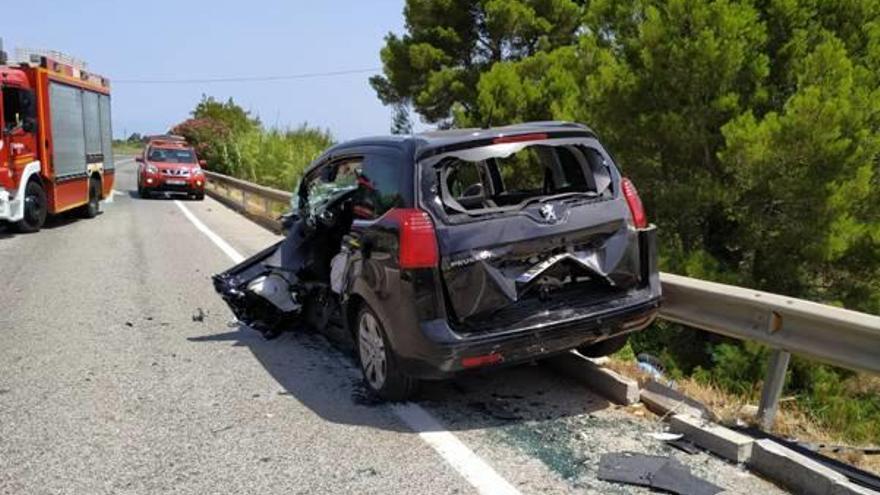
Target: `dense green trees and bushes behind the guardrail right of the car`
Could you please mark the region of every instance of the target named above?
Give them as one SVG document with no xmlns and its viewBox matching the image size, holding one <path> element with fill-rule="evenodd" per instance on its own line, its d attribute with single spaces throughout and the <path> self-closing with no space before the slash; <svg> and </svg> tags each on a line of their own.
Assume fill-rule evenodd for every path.
<svg viewBox="0 0 880 495">
<path fill-rule="evenodd" d="M 662 269 L 880 313 L 880 0 L 408 0 L 370 83 L 440 127 L 591 125 Z M 756 400 L 768 350 L 677 325 L 631 342 Z M 786 404 L 880 444 L 876 377 L 795 358 Z"/>
</svg>

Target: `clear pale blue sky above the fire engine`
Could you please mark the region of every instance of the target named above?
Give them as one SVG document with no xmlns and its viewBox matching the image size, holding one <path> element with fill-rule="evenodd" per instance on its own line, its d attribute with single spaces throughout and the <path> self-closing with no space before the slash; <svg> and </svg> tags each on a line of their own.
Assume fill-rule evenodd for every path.
<svg viewBox="0 0 880 495">
<path fill-rule="evenodd" d="M 124 79 L 276 76 L 381 67 L 403 0 L 149 0 L 9 2 L 0 37 L 85 60 L 111 79 L 113 131 L 157 133 L 184 120 L 202 93 L 233 97 L 264 123 L 329 128 L 337 139 L 388 132 L 391 111 L 370 74 L 271 82 L 124 84 Z M 31 22 L 24 22 L 26 20 Z M 14 21 L 14 22 L 13 22 Z"/>
</svg>

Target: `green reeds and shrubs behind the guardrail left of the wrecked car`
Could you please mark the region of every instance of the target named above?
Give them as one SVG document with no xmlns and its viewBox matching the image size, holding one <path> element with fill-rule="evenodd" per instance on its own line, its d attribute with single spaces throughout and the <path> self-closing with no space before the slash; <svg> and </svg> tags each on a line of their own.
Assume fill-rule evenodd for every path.
<svg viewBox="0 0 880 495">
<path fill-rule="evenodd" d="M 330 133 L 303 124 L 267 129 L 237 105 L 210 96 L 192 111 L 192 118 L 171 129 L 187 138 L 208 169 L 285 191 L 293 190 L 306 166 L 333 144 Z"/>
</svg>

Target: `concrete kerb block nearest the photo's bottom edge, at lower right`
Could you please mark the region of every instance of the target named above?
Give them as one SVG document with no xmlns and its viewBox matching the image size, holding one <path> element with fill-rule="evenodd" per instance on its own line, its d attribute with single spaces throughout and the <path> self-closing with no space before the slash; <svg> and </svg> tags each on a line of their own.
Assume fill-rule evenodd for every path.
<svg viewBox="0 0 880 495">
<path fill-rule="evenodd" d="M 770 480 L 804 495 L 834 493 L 845 476 L 772 440 L 755 440 L 748 466 Z M 843 492 L 846 493 L 846 492 Z"/>
</svg>

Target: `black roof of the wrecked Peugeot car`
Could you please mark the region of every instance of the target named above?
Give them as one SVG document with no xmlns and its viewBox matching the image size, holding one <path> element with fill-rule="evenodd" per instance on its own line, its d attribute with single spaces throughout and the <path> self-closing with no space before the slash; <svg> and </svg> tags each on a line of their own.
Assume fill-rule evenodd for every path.
<svg viewBox="0 0 880 495">
<path fill-rule="evenodd" d="M 372 136 L 339 143 L 321 154 L 306 172 L 310 172 L 326 158 L 343 155 L 352 148 L 384 146 L 412 153 L 413 157 L 425 157 L 449 149 L 464 147 L 475 142 L 492 140 L 516 134 L 577 135 L 596 137 L 589 127 L 576 122 L 541 121 L 524 122 L 501 127 L 444 129 L 408 135 Z"/>
</svg>

